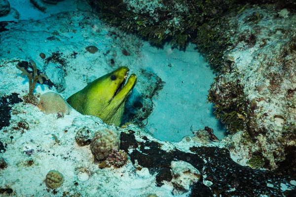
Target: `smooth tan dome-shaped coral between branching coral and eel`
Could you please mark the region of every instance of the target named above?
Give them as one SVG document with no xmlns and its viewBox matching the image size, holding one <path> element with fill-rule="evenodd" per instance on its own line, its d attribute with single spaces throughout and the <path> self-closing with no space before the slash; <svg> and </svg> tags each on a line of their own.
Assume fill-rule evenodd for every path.
<svg viewBox="0 0 296 197">
<path fill-rule="evenodd" d="M 62 113 L 69 114 L 71 108 L 69 104 L 61 97 L 61 95 L 54 92 L 47 92 L 40 96 L 37 107 L 44 114 Z"/>
</svg>

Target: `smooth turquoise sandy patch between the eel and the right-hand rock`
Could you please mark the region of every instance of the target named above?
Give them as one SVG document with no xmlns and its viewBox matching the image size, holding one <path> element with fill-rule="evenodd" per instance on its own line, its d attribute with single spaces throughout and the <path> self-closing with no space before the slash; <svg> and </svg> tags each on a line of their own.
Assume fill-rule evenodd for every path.
<svg viewBox="0 0 296 197">
<path fill-rule="evenodd" d="M 163 141 L 180 141 L 192 131 L 210 127 L 222 139 L 223 125 L 213 114 L 213 104 L 207 103 L 210 85 L 216 76 L 201 54 L 189 44 L 185 51 L 143 46 L 143 66 L 164 82 L 158 96 L 153 97 L 153 112 L 146 130 Z"/>
</svg>

